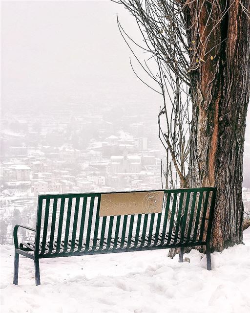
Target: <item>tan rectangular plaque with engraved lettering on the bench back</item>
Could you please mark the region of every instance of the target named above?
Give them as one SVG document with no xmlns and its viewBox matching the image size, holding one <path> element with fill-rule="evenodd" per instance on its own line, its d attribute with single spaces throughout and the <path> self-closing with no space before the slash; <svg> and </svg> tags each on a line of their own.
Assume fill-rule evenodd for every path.
<svg viewBox="0 0 250 313">
<path fill-rule="evenodd" d="M 161 213 L 164 191 L 102 194 L 99 216 Z"/>
</svg>

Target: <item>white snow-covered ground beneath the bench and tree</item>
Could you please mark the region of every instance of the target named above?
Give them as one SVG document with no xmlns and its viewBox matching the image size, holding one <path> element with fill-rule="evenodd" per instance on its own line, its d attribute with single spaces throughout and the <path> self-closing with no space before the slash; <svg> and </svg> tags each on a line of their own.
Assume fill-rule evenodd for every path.
<svg viewBox="0 0 250 313">
<path fill-rule="evenodd" d="M 30 259 L 20 258 L 12 284 L 12 246 L 1 246 L 1 313 L 250 313 L 250 228 L 244 245 L 190 263 L 168 250 L 115 253 L 40 261 L 35 287 Z"/>
</svg>

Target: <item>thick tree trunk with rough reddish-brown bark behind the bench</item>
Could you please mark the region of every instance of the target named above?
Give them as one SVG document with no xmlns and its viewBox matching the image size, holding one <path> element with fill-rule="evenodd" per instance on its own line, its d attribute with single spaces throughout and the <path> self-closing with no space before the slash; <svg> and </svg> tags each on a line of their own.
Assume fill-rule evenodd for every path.
<svg viewBox="0 0 250 313">
<path fill-rule="evenodd" d="M 250 19 L 239 0 L 219 2 L 211 16 L 208 6 L 212 2 L 201 7 L 199 31 L 194 33 L 191 28 L 187 33 L 190 46 L 210 36 L 206 48 L 210 52 L 206 55 L 200 50 L 204 61 L 198 62 L 204 64 L 191 74 L 188 186 L 218 188 L 211 251 L 242 243 L 242 164 L 250 96 Z M 250 10 L 249 0 L 241 3 Z M 222 17 L 226 7 L 228 12 Z M 195 22 L 196 12 L 197 2 L 192 1 L 185 8 L 187 28 Z M 193 56 L 191 51 L 190 58 Z M 169 256 L 177 252 L 171 249 Z"/>
</svg>

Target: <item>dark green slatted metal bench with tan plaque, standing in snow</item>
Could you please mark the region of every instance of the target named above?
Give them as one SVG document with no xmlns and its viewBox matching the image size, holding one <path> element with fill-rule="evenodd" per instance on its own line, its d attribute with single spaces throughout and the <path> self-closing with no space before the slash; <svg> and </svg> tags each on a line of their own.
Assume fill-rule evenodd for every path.
<svg viewBox="0 0 250 313">
<path fill-rule="evenodd" d="M 40 195 L 36 229 L 14 227 L 14 280 L 19 255 L 35 263 L 63 256 L 206 246 L 211 269 L 210 234 L 216 187 L 172 190 Z M 33 242 L 18 242 L 19 227 L 34 232 Z"/>
</svg>

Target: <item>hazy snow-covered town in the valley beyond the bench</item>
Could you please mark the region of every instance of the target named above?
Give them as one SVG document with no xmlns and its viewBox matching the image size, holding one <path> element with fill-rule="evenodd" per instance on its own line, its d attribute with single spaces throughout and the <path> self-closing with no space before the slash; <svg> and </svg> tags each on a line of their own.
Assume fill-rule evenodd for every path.
<svg viewBox="0 0 250 313">
<path fill-rule="evenodd" d="M 12 242 L 15 224 L 35 226 L 39 194 L 164 186 L 165 152 L 150 112 L 120 111 L 76 107 L 62 110 L 57 118 L 53 110 L 37 117 L 29 112 L 2 117 L 0 243 Z M 243 201 L 249 212 L 248 188 Z"/>
</svg>

